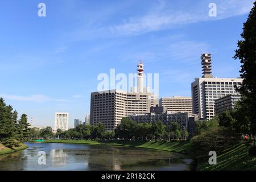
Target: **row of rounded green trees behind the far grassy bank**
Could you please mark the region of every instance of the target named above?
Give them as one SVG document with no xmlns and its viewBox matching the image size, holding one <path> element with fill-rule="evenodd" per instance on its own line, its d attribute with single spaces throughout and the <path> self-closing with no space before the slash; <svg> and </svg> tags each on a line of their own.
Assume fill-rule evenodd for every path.
<svg viewBox="0 0 256 182">
<path fill-rule="evenodd" d="M 182 130 L 179 123 L 172 122 L 170 132 L 167 131 L 163 122 L 157 121 L 154 123 L 137 123 L 128 118 L 123 118 L 121 124 L 113 131 L 105 129 L 104 124 L 97 125 L 78 125 L 74 129 L 61 131 L 57 129 L 56 133 L 52 132 L 51 127 L 45 129 L 30 130 L 31 138 L 42 139 L 96 139 L 96 140 L 168 140 L 180 139 L 185 140 L 188 137 L 188 131 Z"/>
</svg>

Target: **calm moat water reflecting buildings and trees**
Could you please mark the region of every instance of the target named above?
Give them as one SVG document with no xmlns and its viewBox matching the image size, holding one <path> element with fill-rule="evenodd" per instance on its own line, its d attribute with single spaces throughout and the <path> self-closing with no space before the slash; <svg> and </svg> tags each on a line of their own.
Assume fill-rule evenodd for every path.
<svg viewBox="0 0 256 182">
<path fill-rule="evenodd" d="M 133 147 L 67 143 L 26 143 L 28 148 L 0 155 L 0 170 L 189 170 L 184 155 Z M 39 165 L 39 151 L 46 164 Z"/>
</svg>

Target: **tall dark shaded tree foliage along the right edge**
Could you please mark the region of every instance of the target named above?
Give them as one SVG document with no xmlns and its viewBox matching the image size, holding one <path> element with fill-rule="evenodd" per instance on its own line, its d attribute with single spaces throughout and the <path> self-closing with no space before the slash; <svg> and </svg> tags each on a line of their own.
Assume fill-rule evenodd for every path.
<svg viewBox="0 0 256 182">
<path fill-rule="evenodd" d="M 239 59 L 241 65 L 240 76 L 242 84 L 237 88 L 243 97 L 242 105 L 247 106 L 249 114 L 250 133 L 256 134 L 256 2 L 250 11 L 247 21 L 243 24 L 242 40 L 238 40 L 238 49 L 234 59 Z"/>
</svg>

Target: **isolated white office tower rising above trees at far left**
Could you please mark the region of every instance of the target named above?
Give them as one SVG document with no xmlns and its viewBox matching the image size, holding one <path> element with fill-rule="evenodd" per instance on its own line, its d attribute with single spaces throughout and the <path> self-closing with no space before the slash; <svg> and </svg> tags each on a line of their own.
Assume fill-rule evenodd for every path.
<svg viewBox="0 0 256 182">
<path fill-rule="evenodd" d="M 68 130 L 68 113 L 55 113 L 54 131 L 57 129 Z"/>
</svg>

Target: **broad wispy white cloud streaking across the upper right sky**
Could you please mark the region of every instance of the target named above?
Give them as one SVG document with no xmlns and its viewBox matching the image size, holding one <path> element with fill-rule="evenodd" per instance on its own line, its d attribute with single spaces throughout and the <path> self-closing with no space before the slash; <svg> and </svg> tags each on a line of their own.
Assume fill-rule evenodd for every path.
<svg viewBox="0 0 256 182">
<path fill-rule="evenodd" d="M 208 15 L 208 4 L 201 3 L 189 9 L 175 10 L 167 7 L 163 2 L 159 7 L 147 14 L 124 19 L 122 23 L 109 27 L 113 35 L 135 36 L 151 31 L 167 30 L 183 24 L 202 22 L 205 20 L 219 20 L 249 13 L 254 0 L 226 0 L 215 1 L 217 17 Z"/>
</svg>

